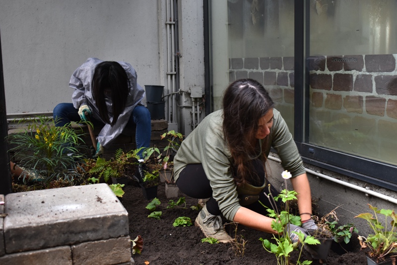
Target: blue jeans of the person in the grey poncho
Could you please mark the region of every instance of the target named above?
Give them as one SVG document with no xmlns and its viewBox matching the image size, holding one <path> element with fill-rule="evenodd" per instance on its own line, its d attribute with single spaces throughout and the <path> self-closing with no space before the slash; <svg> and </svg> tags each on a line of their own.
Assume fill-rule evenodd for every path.
<svg viewBox="0 0 397 265">
<path fill-rule="evenodd" d="M 79 122 L 81 120 L 78 115 L 78 110 L 74 108 L 72 103 L 59 103 L 53 111 L 55 126 L 65 126 L 71 121 Z M 94 118 L 91 118 L 91 122 L 94 127 L 103 127 L 105 124 Z M 123 134 L 132 135 L 132 131 L 136 126 L 135 142 L 136 148 L 149 147 L 150 136 L 151 136 L 151 120 L 150 112 L 143 105 L 137 105 L 132 110 L 130 120 L 123 130 Z M 138 153 L 139 157 L 142 158 L 143 149 Z"/>
</svg>

